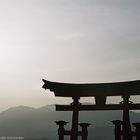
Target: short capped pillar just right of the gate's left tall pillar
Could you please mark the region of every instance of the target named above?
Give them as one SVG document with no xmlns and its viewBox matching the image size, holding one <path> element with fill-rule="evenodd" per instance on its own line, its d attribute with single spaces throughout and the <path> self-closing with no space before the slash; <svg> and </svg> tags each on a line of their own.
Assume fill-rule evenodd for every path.
<svg viewBox="0 0 140 140">
<path fill-rule="evenodd" d="M 89 123 L 80 123 L 79 125 L 82 127 L 82 140 L 87 140 L 87 136 L 88 136 L 87 127 L 90 124 Z"/>
</svg>

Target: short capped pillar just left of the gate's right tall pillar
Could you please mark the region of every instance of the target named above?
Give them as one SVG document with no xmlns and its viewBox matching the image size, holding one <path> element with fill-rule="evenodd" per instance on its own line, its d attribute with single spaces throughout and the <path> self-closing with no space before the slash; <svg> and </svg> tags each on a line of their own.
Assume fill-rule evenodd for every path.
<svg viewBox="0 0 140 140">
<path fill-rule="evenodd" d="M 115 140 L 121 140 L 121 133 L 122 133 L 122 121 L 115 120 L 111 121 L 115 125 Z"/>
</svg>

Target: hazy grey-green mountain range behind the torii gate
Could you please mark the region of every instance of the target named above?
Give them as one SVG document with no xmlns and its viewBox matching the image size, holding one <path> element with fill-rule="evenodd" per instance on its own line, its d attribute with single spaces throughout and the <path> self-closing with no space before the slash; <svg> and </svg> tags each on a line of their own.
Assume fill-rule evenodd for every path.
<svg viewBox="0 0 140 140">
<path fill-rule="evenodd" d="M 57 139 L 56 120 L 65 120 L 71 127 L 72 112 L 57 112 L 54 105 L 31 108 L 18 106 L 0 113 L 0 136 Z M 91 123 L 89 140 L 114 140 L 114 126 L 110 121 L 121 119 L 121 111 L 80 112 L 80 121 Z M 140 122 L 140 113 L 130 112 L 131 122 Z M 44 139 L 45 140 L 45 139 Z"/>
</svg>

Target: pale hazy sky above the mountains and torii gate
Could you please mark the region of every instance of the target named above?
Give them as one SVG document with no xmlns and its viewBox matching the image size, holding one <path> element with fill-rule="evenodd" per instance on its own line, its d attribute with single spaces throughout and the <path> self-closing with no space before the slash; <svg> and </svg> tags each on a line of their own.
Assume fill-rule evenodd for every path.
<svg viewBox="0 0 140 140">
<path fill-rule="evenodd" d="M 140 79 L 139 45 L 139 0 L 0 0 L 0 110 L 62 103 L 42 78 Z"/>
</svg>

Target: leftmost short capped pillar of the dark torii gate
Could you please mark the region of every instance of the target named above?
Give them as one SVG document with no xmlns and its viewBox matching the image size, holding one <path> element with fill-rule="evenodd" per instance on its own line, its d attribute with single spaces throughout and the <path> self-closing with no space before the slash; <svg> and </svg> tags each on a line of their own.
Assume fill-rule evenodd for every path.
<svg viewBox="0 0 140 140">
<path fill-rule="evenodd" d="M 56 121 L 55 122 L 57 125 L 59 125 L 58 128 L 58 136 L 59 136 L 59 140 L 64 140 L 64 125 L 66 125 L 68 122 L 65 121 Z"/>
</svg>

